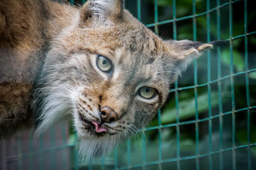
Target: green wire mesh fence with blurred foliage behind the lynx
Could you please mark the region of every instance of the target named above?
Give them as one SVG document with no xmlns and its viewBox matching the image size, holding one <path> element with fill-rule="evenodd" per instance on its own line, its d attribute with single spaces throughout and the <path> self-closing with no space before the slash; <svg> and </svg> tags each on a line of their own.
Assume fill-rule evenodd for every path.
<svg viewBox="0 0 256 170">
<path fill-rule="evenodd" d="M 1 169 L 256 169 L 256 31 L 250 24 L 255 11 L 248 11 L 252 1 L 125 4 L 163 38 L 225 39 L 229 45 L 195 60 L 172 85 L 169 102 L 152 123 L 108 156 L 87 162 L 79 158 L 77 134 L 68 122 L 61 122 L 35 142 L 32 131 L 2 139 Z M 182 11 L 184 6 L 190 11 Z"/>
</svg>

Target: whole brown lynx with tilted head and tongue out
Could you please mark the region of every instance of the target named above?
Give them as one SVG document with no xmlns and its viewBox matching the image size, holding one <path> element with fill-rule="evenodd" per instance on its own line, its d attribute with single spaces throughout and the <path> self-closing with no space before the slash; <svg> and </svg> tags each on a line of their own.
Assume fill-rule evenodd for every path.
<svg viewBox="0 0 256 170">
<path fill-rule="evenodd" d="M 1 0 L 0 38 L 0 136 L 24 125 L 38 136 L 72 118 L 87 157 L 145 127 L 170 84 L 212 48 L 164 41 L 121 0 Z"/>
</svg>

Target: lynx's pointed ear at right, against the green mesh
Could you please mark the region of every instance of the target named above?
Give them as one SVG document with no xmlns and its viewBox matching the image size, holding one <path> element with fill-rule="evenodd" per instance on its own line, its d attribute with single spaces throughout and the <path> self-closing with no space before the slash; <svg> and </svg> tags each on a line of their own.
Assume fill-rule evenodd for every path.
<svg viewBox="0 0 256 170">
<path fill-rule="evenodd" d="M 188 64 L 200 56 L 200 52 L 213 47 L 211 43 L 200 43 L 197 41 L 165 41 L 168 56 L 172 57 L 174 69 L 177 73 L 184 71 Z"/>
</svg>

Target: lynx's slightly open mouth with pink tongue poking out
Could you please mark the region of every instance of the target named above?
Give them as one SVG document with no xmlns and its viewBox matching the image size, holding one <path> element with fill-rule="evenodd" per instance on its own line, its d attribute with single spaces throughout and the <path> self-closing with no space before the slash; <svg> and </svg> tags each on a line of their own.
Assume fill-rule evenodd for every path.
<svg viewBox="0 0 256 170">
<path fill-rule="evenodd" d="M 91 122 L 87 120 L 81 113 L 79 113 L 79 119 L 83 122 L 84 129 L 92 134 L 102 136 L 107 132 L 107 129 L 102 127 L 101 124 L 98 124 L 96 121 Z"/>
</svg>

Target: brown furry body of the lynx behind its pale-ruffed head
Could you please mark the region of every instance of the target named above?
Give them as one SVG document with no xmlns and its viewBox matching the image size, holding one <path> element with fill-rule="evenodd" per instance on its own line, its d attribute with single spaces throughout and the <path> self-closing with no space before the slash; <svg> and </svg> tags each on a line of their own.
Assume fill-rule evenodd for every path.
<svg viewBox="0 0 256 170">
<path fill-rule="evenodd" d="M 0 134 L 31 120 L 31 87 L 44 50 L 74 10 L 50 1 L 0 1 Z"/>
</svg>

